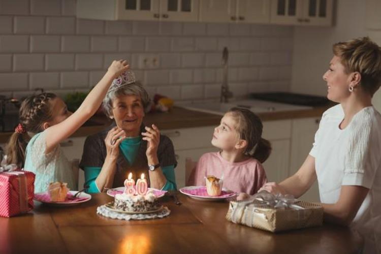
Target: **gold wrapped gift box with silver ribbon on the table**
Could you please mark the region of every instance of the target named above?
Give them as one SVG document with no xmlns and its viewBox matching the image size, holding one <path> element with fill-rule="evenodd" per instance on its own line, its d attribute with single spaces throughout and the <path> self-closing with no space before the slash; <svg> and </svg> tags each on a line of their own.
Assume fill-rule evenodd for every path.
<svg viewBox="0 0 381 254">
<path fill-rule="evenodd" d="M 293 204 L 304 209 L 272 208 L 257 200 L 236 209 L 239 203 L 230 202 L 226 218 L 252 228 L 279 232 L 321 226 L 323 223 L 323 207 L 311 202 L 296 201 Z"/>
</svg>

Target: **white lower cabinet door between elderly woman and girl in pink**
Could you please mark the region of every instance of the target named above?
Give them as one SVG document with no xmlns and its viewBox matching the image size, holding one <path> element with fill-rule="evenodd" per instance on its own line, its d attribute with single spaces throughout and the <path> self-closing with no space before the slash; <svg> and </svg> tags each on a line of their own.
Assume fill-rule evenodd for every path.
<svg viewBox="0 0 381 254">
<path fill-rule="evenodd" d="M 215 147 L 205 147 L 196 149 L 185 149 L 175 151 L 177 167 L 175 168 L 176 184 L 177 188 L 185 186 L 185 182 L 189 177 L 189 173 L 185 172 L 185 159 L 190 158 L 192 161 L 197 162 L 201 155 L 206 152 L 218 151 Z"/>
</svg>

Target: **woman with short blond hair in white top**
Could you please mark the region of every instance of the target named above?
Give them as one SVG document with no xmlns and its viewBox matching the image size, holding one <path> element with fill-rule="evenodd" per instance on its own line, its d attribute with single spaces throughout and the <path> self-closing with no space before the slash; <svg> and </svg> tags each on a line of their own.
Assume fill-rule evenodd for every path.
<svg viewBox="0 0 381 254">
<path fill-rule="evenodd" d="M 300 169 L 262 189 L 300 197 L 317 178 L 324 220 L 358 230 L 365 235 L 364 252 L 376 253 L 381 248 L 381 115 L 371 100 L 381 81 L 381 48 L 365 37 L 336 43 L 333 53 L 323 79 L 328 99 L 339 104 L 324 112 Z"/>
</svg>

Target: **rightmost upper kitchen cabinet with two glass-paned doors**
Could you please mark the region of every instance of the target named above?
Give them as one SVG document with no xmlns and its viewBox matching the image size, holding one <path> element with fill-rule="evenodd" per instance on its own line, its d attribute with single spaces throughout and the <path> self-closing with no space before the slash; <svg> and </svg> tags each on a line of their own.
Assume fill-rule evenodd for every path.
<svg viewBox="0 0 381 254">
<path fill-rule="evenodd" d="M 270 23 L 332 25 L 334 0 L 271 0 Z"/>
</svg>

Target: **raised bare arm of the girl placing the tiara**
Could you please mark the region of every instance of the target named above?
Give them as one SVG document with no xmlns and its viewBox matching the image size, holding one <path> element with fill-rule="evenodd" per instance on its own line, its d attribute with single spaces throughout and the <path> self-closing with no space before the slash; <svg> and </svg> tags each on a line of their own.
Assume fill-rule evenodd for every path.
<svg viewBox="0 0 381 254">
<path fill-rule="evenodd" d="M 62 140 L 70 137 L 101 106 L 112 81 L 129 68 L 125 60 L 113 61 L 98 84 L 89 92 L 81 106 L 67 119 L 46 130 L 46 152 L 50 152 Z"/>
</svg>

